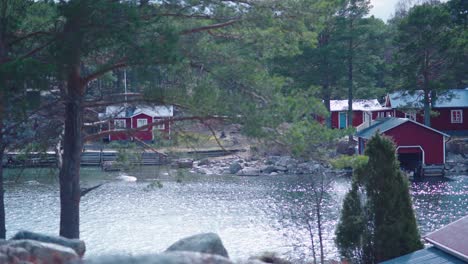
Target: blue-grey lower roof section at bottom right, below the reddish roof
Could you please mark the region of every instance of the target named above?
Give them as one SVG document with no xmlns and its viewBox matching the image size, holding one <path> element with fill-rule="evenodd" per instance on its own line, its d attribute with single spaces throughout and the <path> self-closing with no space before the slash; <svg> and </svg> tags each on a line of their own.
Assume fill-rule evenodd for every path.
<svg viewBox="0 0 468 264">
<path fill-rule="evenodd" d="M 445 253 L 444 251 L 437 249 L 435 247 L 429 247 L 426 249 L 421 249 L 413 253 L 394 258 L 381 262 L 382 264 L 401 264 L 401 263 L 411 263 L 411 264 L 463 264 L 466 263 L 461 259 L 458 259 L 450 254 Z"/>
</svg>

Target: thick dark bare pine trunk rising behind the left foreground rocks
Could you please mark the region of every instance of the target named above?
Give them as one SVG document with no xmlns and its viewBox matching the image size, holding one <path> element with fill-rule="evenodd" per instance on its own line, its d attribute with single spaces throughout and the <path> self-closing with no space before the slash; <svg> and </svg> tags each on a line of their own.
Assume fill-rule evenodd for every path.
<svg viewBox="0 0 468 264">
<path fill-rule="evenodd" d="M 80 161 L 82 142 L 82 91 L 79 69 L 70 74 L 65 103 L 63 164 L 60 169 L 60 235 L 80 237 Z"/>
</svg>

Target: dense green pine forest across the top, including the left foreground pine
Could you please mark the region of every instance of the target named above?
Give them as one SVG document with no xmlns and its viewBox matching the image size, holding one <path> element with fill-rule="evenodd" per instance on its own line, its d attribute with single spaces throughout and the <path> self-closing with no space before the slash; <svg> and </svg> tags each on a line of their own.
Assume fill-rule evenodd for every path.
<svg viewBox="0 0 468 264">
<path fill-rule="evenodd" d="M 429 117 L 431 94 L 467 86 L 468 2 L 409 2 L 384 22 L 368 0 L 1 0 L 0 160 L 63 149 L 60 235 L 78 238 L 80 155 L 105 106 L 174 105 L 175 122 L 239 123 L 305 157 L 347 133 L 315 118 L 332 99 L 422 90 Z"/>
</svg>

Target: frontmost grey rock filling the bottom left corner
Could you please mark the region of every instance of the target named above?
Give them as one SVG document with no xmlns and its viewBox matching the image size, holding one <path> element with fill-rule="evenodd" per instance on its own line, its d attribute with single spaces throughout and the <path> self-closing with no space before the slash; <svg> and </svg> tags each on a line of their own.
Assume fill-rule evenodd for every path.
<svg viewBox="0 0 468 264">
<path fill-rule="evenodd" d="M 68 247 L 34 240 L 11 240 L 0 246 L 0 263 L 65 264 L 80 257 Z"/>
</svg>

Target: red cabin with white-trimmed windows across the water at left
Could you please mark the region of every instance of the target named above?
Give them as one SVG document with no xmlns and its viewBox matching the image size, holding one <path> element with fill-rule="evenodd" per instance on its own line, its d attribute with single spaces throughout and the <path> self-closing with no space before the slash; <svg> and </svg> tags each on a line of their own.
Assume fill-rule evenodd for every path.
<svg viewBox="0 0 468 264">
<path fill-rule="evenodd" d="M 155 133 L 170 135 L 173 106 L 108 106 L 105 113 L 99 115 L 108 124 L 102 130 L 121 130 L 108 136 L 108 141 L 133 140 L 153 141 Z M 161 121 L 158 125 L 129 133 L 147 124 Z"/>
</svg>

